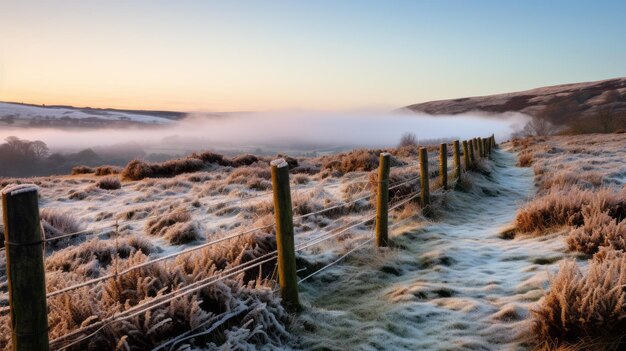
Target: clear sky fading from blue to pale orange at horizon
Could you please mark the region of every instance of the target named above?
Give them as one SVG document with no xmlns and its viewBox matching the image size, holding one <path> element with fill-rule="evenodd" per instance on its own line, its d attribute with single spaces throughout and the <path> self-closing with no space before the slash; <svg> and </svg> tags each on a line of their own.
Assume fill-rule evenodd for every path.
<svg viewBox="0 0 626 351">
<path fill-rule="evenodd" d="M 626 1 L 0 0 L 0 101 L 388 110 L 626 76 Z"/>
</svg>

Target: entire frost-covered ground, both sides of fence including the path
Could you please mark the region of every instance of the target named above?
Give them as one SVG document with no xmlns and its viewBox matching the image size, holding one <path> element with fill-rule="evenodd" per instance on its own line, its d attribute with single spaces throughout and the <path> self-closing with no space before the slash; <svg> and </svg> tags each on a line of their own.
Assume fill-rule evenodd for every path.
<svg viewBox="0 0 626 351">
<path fill-rule="evenodd" d="M 594 194 L 604 194 L 603 199 L 613 206 L 610 209 L 621 208 L 620 204 L 626 203 L 626 194 L 619 192 L 626 175 L 626 166 L 620 161 L 625 146 L 623 134 L 504 144 L 492 160 L 480 162 L 454 190 L 434 190 L 433 210 L 428 216 L 420 214 L 415 202 L 392 211 L 393 245 L 389 249 L 374 249 L 366 241 L 373 236 L 372 223 L 359 224 L 373 214 L 371 195 L 377 184 L 374 174 L 380 150 L 301 158 L 297 162 L 288 159 L 296 247 L 301 248 L 299 277 L 309 276 L 365 243 L 300 285 L 302 313 L 289 314 L 280 305 L 275 291 L 275 261 L 269 260 L 98 329 L 73 348 L 152 349 L 163 344 L 165 349 L 541 347 L 558 330 L 550 318 L 541 317 L 554 300 L 549 273 L 557 272 L 560 264 L 571 259 L 586 267 L 590 256 L 585 255 L 593 254 L 577 249 L 581 243 L 590 242 L 585 237 L 583 216 L 579 215 L 583 223 L 567 221 L 575 220 L 584 204 L 563 210 L 567 220 L 561 223 L 550 201 L 565 199 L 574 205 L 576 201 L 563 193 L 552 193 L 575 186 L 589 193 L 575 195 L 576 199 L 587 201 Z M 391 193 L 392 204 L 396 204 L 416 190 L 417 158 L 411 148 L 390 151 L 394 155 L 391 184 L 399 185 Z M 430 160 L 432 186 L 436 188 L 435 152 L 431 152 Z M 170 178 L 124 180 L 116 190 L 104 190 L 102 187 L 108 185 L 102 184 L 115 188 L 114 180 L 107 177 L 119 175 L 22 180 L 39 186 L 48 238 L 93 230 L 88 234 L 94 235 L 52 241 L 46 246 L 47 287 L 52 294 L 250 231 L 147 265 L 122 278 L 105 279 L 50 297 L 50 339 L 169 296 L 194 282 L 221 277 L 246 262 L 273 257 L 276 247 L 269 161 L 249 156 L 223 165 L 215 161 L 199 171 Z M 533 168 L 519 167 L 518 162 Z M 146 166 L 138 169 L 142 167 Z M 3 180 L 0 185 L 11 182 Z M 342 203 L 348 205 L 334 207 Z M 547 209 L 541 207 L 544 204 L 548 204 Z M 317 213 L 324 209 L 332 210 Z M 536 213 L 547 222 L 540 223 L 533 217 Z M 624 235 L 626 238 L 626 232 Z M 598 235 L 590 237 L 597 239 Z M 327 240 L 316 243 L 317 239 Z M 617 241 L 609 241 L 607 245 L 617 245 Z M 601 247 L 607 245 L 603 243 L 595 245 L 596 249 L 605 252 Z M 4 252 L 0 256 L 1 276 Z M 576 281 L 571 269 L 567 272 L 568 281 Z M 0 278 L 0 306 L 8 303 L 5 284 Z M 563 286 L 563 282 L 559 284 Z M 8 314 L 2 307 L 0 311 L 0 346 L 8 349 Z M 179 337 L 181 333 L 186 334 Z"/>
</svg>

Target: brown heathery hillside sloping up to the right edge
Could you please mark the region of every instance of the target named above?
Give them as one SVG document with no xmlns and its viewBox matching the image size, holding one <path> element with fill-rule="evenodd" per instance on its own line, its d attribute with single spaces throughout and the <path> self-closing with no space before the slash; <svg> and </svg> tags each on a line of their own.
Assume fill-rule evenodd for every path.
<svg viewBox="0 0 626 351">
<path fill-rule="evenodd" d="M 564 125 L 587 116 L 610 111 L 626 114 L 626 78 L 563 84 L 516 93 L 430 101 L 406 106 L 413 112 L 432 115 L 471 111 L 521 112 Z"/>
</svg>

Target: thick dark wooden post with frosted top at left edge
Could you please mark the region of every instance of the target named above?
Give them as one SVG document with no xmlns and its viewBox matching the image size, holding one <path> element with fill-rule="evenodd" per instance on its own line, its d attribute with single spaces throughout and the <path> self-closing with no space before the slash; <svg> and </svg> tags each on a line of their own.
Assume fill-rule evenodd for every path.
<svg viewBox="0 0 626 351">
<path fill-rule="evenodd" d="M 48 350 L 48 307 L 37 187 L 2 190 L 13 350 Z"/>
</svg>

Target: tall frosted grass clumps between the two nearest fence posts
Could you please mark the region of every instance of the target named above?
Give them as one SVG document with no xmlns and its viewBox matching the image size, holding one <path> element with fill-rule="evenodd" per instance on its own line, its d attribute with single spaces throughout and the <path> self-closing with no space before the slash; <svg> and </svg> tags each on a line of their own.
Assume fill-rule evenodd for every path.
<svg viewBox="0 0 626 351">
<path fill-rule="evenodd" d="M 272 238 L 251 235 L 229 245 L 203 249 L 180 256 L 174 262 L 152 264 L 93 287 L 52 297 L 48 301 L 50 339 L 202 279 L 218 277 L 224 269 L 275 249 Z M 150 259 L 146 256 L 149 250 L 144 241 L 131 237 L 122 240 L 117 248 L 113 240 L 93 240 L 59 252 L 50 258 L 47 266 L 48 290 L 144 263 Z M 166 349 L 255 349 L 258 345 L 266 348 L 287 345 L 290 317 L 268 280 L 274 264 L 268 262 L 260 269 L 218 281 L 126 321 L 110 324 L 70 350 L 153 349 L 166 343 Z M 8 318 L 8 314 L 0 316 L 0 349 L 4 350 L 11 347 Z M 185 337 L 191 335 L 197 336 Z"/>
</svg>

